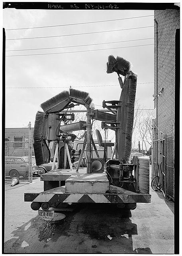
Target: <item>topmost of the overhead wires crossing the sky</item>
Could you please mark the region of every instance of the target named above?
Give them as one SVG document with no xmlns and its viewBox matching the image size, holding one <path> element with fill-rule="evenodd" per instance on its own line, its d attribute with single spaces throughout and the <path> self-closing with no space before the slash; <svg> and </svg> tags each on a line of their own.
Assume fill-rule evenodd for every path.
<svg viewBox="0 0 182 256">
<path fill-rule="evenodd" d="M 72 24 L 63 24 L 63 25 L 54 25 L 54 26 L 32 27 L 32 28 L 52 28 L 52 27 L 72 26 L 72 25 L 91 24 L 91 23 L 108 22 L 108 21 L 116 21 L 116 20 L 129 20 L 129 19 L 143 18 L 143 17 L 150 17 L 150 16 L 154 16 L 154 15 L 138 16 L 138 17 L 131 17 L 131 18 L 115 19 L 115 20 L 99 20 L 99 21 L 92 21 L 92 22 L 72 23 Z M 21 29 L 32 29 L 32 28 L 11 28 L 6 30 L 21 30 Z"/>
</svg>

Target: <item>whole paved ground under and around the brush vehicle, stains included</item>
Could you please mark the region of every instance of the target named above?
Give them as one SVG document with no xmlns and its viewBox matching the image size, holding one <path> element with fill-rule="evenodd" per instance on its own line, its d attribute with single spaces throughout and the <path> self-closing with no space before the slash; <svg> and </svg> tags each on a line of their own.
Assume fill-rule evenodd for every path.
<svg viewBox="0 0 182 256">
<path fill-rule="evenodd" d="M 24 202 L 25 192 L 43 191 L 40 178 L 5 187 L 5 253 L 174 253 L 174 202 L 161 192 L 151 190 L 151 204 L 135 210 L 79 204 L 53 223 Z"/>
</svg>

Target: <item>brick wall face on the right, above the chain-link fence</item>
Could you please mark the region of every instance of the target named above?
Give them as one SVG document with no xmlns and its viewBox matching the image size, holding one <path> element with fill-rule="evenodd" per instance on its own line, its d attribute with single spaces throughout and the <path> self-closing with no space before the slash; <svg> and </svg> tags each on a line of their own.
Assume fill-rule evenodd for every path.
<svg viewBox="0 0 182 256">
<path fill-rule="evenodd" d="M 155 10 L 154 18 L 158 22 L 158 92 L 156 90 L 156 24 L 154 32 L 154 95 L 159 94 L 164 88 L 162 96 L 158 100 L 158 128 L 164 133 L 170 133 L 174 125 L 175 110 L 175 34 L 180 28 L 179 10 Z M 179 53 L 180 54 L 180 53 Z M 161 133 L 158 132 L 160 138 Z"/>
</svg>

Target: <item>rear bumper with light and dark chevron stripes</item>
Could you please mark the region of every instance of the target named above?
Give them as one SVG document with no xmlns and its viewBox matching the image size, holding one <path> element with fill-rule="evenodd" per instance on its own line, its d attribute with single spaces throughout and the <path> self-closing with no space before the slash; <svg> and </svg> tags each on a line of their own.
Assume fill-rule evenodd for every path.
<svg viewBox="0 0 182 256">
<path fill-rule="evenodd" d="M 128 193 L 127 193 L 128 192 Z M 124 194 L 65 193 L 65 188 L 53 188 L 41 193 L 25 193 L 25 202 L 55 203 L 150 203 L 151 195 L 126 190 Z"/>
</svg>

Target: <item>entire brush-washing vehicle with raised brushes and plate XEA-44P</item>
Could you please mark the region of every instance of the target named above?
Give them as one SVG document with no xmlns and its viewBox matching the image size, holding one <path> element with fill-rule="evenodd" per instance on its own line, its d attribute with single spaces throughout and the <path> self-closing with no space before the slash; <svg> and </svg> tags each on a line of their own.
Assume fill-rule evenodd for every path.
<svg viewBox="0 0 182 256">
<path fill-rule="evenodd" d="M 54 208 L 66 207 L 78 203 L 115 204 L 119 208 L 134 210 L 137 202 L 150 203 L 149 194 L 149 160 L 134 156 L 130 162 L 131 138 L 137 74 L 131 71 L 131 63 L 121 57 L 110 55 L 107 62 L 107 73 L 116 72 L 121 96 L 119 100 L 103 101 L 103 108 L 108 112 L 91 110 L 87 92 L 70 88 L 41 104 L 42 112 L 37 112 L 33 134 L 33 147 L 36 164 L 50 161 L 50 142 L 56 143 L 53 168 L 43 174 L 44 191 L 25 193 L 25 201 L 32 202 L 31 208 L 44 212 L 47 218 L 53 219 Z M 121 76 L 124 77 L 122 80 Z M 86 122 L 69 122 L 65 110 L 78 105 L 86 108 Z M 92 120 L 102 121 L 103 129 L 115 131 L 115 145 L 104 142 L 99 130 L 96 130 L 99 146 L 104 148 L 104 157 L 100 158 L 92 138 Z M 61 123 L 64 122 L 64 125 Z M 76 167 L 71 160 L 70 142 L 79 139 L 73 131 L 84 130 L 83 147 Z M 60 146 L 63 145 L 63 146 Z M 107 148 L 114 146 L 110 160 Z M 95 157 L 92 154 L 95 151 Z M 114 158 L 115 156 L 115 158 Z M 57 158 L 58 168 L 54 170 Z M 85 159 L 85 168 L 80 165 Z M 82 165 L 83 166 L 83 165 Z M 39 214 L 41 215 L 41 214 Z"/>
</svg>

